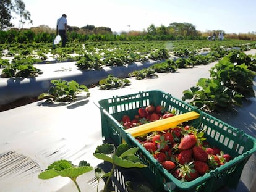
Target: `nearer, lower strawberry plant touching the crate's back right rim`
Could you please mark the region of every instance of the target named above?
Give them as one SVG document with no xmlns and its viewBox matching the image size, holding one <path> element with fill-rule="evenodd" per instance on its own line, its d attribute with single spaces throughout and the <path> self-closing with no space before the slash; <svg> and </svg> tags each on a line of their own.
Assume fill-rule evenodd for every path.
<svg viewBox="0 0 256 192">
<path fill-rule="evenodd" d="M 233 110 L 234 106 L 242 106 L 244 96 L 221 85 L 215 79 L 200 78 L 197 86 L 183 91 L 182 101 L 204 111 L 222 112 Z"/>
</svg>

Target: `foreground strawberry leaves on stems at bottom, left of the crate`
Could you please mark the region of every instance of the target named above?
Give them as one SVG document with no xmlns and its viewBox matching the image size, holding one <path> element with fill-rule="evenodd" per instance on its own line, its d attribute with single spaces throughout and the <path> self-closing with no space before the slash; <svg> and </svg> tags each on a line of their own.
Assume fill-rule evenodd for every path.
<svg viewBox="0 0 256 192">
<path fill-rule="evenodd" d="M 136 155 L 138 147 L 131 148 L 128 144 L 122 143 L 119 146 L 114 146 L 114 144 L 101 144 L 97 146 L 93 156 L 97 159 L 101 159 L 105 162 L 109 162 L 112 167 L 107 173 L 100 167 L 95 168 L 95 178 L 92 181 L 97 182 L 97 191 L 100 180 L 105 180 L 105 186 L 103 192 L 113 191 L 113 186 L 111 184 L 111 179 L 114 177 L 114 170 L 117 167 L 129 168 L 144 168 L 147 165 L 143 164 L 139 157 Z M 72 164 L 72 162 L 65 159 L 53 162 L 49 165 L 47 169 L 38 175 L 38 178 L 46 180 L 54 177 L 69 177 L 72 182 L 75 183 L 77 190 L 80 192 L 80 186 L 77 183 L 77 177 L 80 175 L 90 172 L 93 167 L 87 161 L 80 161 L 78 166 Z M 127 188 L 132 188 L 131 183 L 127 181 Z M 147 186 L 139 186 L 137 191 L 148 191 L 152 192 Z"/>
</svg>

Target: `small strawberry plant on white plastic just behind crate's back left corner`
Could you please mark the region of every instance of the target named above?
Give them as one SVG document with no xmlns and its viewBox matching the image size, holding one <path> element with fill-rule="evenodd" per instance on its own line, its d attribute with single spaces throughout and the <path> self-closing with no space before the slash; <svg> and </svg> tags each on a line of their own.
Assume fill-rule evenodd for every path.
<svg viewBox="0 0 256 192">
<path fill-rule="evenodd" d="M 127 78 L 122 79 L 122 78 L 114 77 L 113 75 L 108 75 L 107 78 L 99 81 L 98 87 L 101 90 L 110 90 L 113 88 L 122 88 L 129 84 L 130 84 L 130 81 Z"/>
</svg>

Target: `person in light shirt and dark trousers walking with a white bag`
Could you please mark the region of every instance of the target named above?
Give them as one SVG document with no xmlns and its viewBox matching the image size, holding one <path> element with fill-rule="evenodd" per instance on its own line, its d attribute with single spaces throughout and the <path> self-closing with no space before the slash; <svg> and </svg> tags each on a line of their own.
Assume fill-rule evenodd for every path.
<svg viewBox="0 0 256 192">
<path fill-rule="evenodd" d="M 67 42 L 67 15 L 63 14 L 62 17 L 60 17 L 57 20 L 57 27 L 56 27 L 56 33 L 59 34 L 62 39 L 62 48 L 66 46 Z"/>
</svg>

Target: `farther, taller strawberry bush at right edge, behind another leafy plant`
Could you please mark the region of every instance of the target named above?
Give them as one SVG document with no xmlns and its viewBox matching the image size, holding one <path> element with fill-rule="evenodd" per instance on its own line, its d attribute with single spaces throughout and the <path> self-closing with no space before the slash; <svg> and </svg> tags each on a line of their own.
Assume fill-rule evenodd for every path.
<svg viewBox="0 0 256 192">
<path fill-rule="evenodd" d="M 256 73 L 249 57 L 244 54 L 229 53 L 211 68 L 211 77 L 223 83 L 224 86 L 246 97 L 255 96 L 253 80 Z"/>
</svg>

